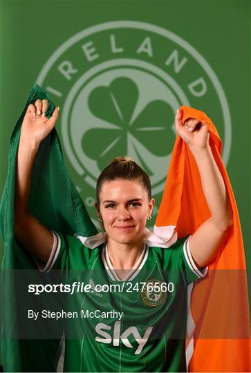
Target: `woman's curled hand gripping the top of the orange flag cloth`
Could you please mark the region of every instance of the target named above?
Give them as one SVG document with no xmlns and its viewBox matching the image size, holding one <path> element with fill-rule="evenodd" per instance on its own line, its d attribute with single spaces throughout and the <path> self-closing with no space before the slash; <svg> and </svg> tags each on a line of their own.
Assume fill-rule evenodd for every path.
<svg viewBox="0 0 251 373">
<path fill-rule="evenodd" d="M 182 110 L 178 109 L 175 117 L 175 127 L 180 137 L 193 148 L 207 148 L 210 137 L 207 124 L 194 118 L 187 119 L 183 124 L 181 122 L 182 115 Z"/>
</svg>

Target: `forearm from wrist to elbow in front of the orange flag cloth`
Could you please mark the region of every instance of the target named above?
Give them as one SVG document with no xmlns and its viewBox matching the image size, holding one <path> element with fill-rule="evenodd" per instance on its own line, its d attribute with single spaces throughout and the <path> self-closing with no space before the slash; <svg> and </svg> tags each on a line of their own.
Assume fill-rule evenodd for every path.
<svg viewBox="0 0 251 373">
<path fill-rule="evenodd" d="M 210 146 L 205 148 L 189 148 L 194 155 L 201 176 L 201 184 L 207 206 L 212 215 L 212 221 L 222 230 L 227 229 L 232 222 L 227 191 L 219 168 L 214 160 Z"/>
</svg>

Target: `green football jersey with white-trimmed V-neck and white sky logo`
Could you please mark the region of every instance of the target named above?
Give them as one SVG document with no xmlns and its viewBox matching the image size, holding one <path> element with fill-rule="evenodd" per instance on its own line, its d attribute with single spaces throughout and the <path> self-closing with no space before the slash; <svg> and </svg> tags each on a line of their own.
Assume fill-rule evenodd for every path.
<svg viewBox="0 0 251 373">
<path fill-rule="evenodd" d="M 145 245 L 120 280 L 105 244 L 89 249 L 56 234 L 45 269 L 61 269 L 75 283 L 67 295 L 76 316 L 66 320 L 64 372 L 186 372 L 187 286 L 207 272 L 196 268 L 189 236 L 168 249 Z M 88 291 L 77 291 L 82 283 Z"/>
</svg>

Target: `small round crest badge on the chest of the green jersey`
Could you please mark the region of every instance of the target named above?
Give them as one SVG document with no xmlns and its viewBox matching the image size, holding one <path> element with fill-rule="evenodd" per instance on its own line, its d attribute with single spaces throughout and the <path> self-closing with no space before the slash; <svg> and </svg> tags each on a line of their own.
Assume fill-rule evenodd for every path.
<svg viewBox="0 0 251 373">
<path fill-rule="evenodd" d="M 147 283 L 145 283 L 145 286 L 142 287 L 141 298 L 145 305 L 156 307 L 165 302 L 167 291 L 162 291 L 160 280 L 148 280 Z"/>
</svg>

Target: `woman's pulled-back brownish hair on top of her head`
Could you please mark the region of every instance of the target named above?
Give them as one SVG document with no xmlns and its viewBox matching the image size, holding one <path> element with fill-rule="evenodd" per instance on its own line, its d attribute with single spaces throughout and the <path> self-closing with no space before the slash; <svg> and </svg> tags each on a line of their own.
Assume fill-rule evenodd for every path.
<svg viewBox="0 0 251 373">
<path fill-rule="evenodd" d="M 145 171 L 133 161 L 133 158 L 125 155 L 124 157 L 115 157 L 100 173 L 97 178 L 96 198 L 100 206 L 100 191 L 102 184 L 106 181 L 126 179 L 136 180 L 146 189 L 149 200 L 151 199 L 151 182 Z"/>
</svg>

